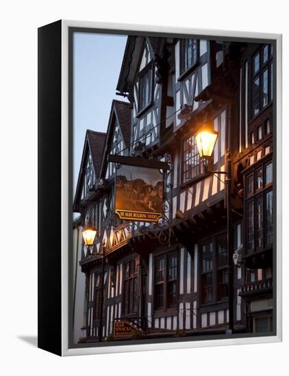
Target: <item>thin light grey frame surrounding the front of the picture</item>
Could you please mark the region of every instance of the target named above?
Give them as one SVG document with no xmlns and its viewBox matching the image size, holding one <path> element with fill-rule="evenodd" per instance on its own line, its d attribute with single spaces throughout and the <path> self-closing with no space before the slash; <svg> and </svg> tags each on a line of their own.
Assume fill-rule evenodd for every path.
<svg viewBox="0 0 289 376">
<path fill-rule="evenodd" d="M 205 340 L 180 340 L 177 342 L 166 343 L 142 343 L 140 345 L 106 345 L 97 347 L 77 347 L 71 348 L 68 343 L 68 250 L 70 239 L 70 225 L 72 224 L 72 217 L 69 215 L 71 208 L 72 193 L 69 187 L 69 176 L 71 174 L 72 162 L 69 152 L 69 143 L 71 142 L 71 134 L 68 129 L 68 108 L 69 95 L 68 89 L 68 68 L 71 62 L 68 59 L 68 42 L 69 33 L 68 28 L 85 29 L 87 32 L 106 32 L 106 33 L 123 33 L 128 32 L 137 33 L 155 33 L 161 36 L 161 33 L 169 33 L 170 35 L 197 35 L 200 37 L 222 40 L 244 40 L 244 39 L 257 39 L 259 42 L 275 42 L 275 132 L 273 135 L 274 143 L 274 155 L 275 155 L 275 207 L 277 215 L 275 215 L 275 307 L 276 314 L 276 335 L 274 336 L 245 336 L 242 338 L 222 338 L 219 339 L 205 339 Z M 97 29 L 97 30 L 96 30 Z M 184 27 L 160 27 L 153 25 L 132 25 L 132 24 L 120 24 L 120 23 L 97 23 L 86 21 L 67 21 L 62 20 L 62 355 L 88 355 L 99 353 L 119 353 L 127 351 L 149 351 L 149 350 L 162 350 L 162 349 L 185 349 L 193 347 L 212 347 L 212 346 L 225 346 L 225 345 L 243 345 L 253 343 L 273 343 L 281 341 L 282 333 L 282 177 L 281 177 L 281 94 L 282 94 L 282 64 L 281 64 L 281 42 L 282 36 L 277 33 L 256 33 L 250 31 L 225 31 L 216 29 L 191 29 Z M 278 126 L 276 126 L 276 124 Z M 71 218 L 70 218 L 71 217 Z M 72 227 L 71 227 L 72 228 Z"/>
</svg>

